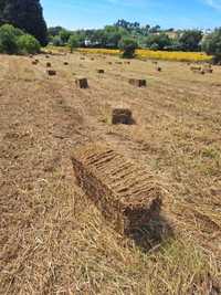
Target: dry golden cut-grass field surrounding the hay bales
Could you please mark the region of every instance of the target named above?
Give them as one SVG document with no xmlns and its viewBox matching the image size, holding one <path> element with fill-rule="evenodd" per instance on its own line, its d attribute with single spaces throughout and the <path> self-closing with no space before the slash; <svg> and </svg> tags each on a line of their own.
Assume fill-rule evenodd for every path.
<svg viewBox="0 0 221 295">
<path fill-rule="evenodd" d="M 221 70 L 52 55 L 56 76 L 0 56 L 0 294 L 221 294 Z M 112 62 L 112 64 L 108 64 Z M 105 75 L 97 75 L 103 66 Z M 74 73 L 90 88 L 75 87 Z M 128 85 L 128 77 L 148 86 Z M 127 105 L 136 125 L 105 123 Z M 164 183 L 172 235 L 145 252 L 74 183 L 71 150 L 105 141 Z M 156 224 L 152 224 L 156 225 Z M 152 226 L 154 229 L 154 226 Z"/>
</svg>

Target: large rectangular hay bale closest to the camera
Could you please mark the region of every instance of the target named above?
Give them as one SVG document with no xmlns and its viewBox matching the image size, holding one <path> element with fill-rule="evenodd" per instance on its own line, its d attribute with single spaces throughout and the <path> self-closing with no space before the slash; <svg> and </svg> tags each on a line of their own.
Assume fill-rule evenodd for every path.
<svg viewBox="0 0 221 295">
<path fill-rule="evenodd" d="M 77 185 L 120 234 L 158 221 L 164 191 L 146 168 L 98 144 L 75 148 L 71 158 Z"/>
</svg>

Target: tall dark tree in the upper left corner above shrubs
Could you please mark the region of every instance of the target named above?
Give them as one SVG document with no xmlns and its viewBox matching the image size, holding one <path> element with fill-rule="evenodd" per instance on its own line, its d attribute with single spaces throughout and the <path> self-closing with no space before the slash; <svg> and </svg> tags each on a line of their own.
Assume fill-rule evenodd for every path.
<svg viewBox="0 0 221 295">
<path fill-rule="evenodd" d="M 48 43 L 46 23 L 39 0 L 0 0 L 0 24 L 11 23 Z"/>
</svg>

